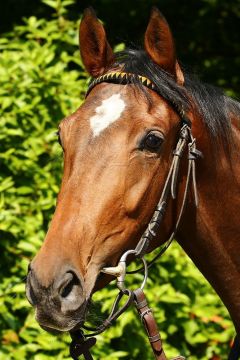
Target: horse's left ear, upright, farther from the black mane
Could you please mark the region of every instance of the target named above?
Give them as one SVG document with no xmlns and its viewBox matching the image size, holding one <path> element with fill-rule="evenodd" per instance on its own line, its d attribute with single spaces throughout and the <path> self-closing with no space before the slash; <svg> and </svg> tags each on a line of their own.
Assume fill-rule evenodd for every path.
<svg viewBox="0 0 240 360">
<path fill-rule="evenodd" d="M 92 8 L 87 8 L 83 13 L 79 40 L 80 53 L 87 72 L 94 77 L 102 75 L 114 61 L 114 55 L 104 27 Z"/>
</svg>

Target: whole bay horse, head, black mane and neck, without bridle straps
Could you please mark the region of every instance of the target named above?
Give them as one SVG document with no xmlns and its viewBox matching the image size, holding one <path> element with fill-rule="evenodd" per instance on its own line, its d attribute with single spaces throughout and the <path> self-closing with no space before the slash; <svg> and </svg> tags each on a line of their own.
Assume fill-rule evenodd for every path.
<svg viewBox="0 0 240 360">
<path fill-rule="evenodd" d="M 185 114 L 203 158 L 196 164 L 198 207 L 189 191 L 176 239 L 240 334 L 240 104 L 182 70 L 169 25 L 156 8 L 144 49 L 116 54 L 87 9 L 80 52 L 95 80 L 85 102 L 59 126 L 61 189 L 27 277 L 37 321 L 58 331 L 84 321 L 91 295 L 112 279 L 101 270 L 135 248 L 152 218 Z M 176 225 L 187 164 L 185 151 L 176 191 L 147 252 L 164 244 Z"/>
</svg>

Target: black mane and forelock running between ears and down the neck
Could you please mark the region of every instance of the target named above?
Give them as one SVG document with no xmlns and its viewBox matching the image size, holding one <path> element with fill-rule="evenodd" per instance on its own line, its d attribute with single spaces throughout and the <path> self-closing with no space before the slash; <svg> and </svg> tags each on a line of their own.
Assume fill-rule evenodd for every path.
<svg viewBox="0 0 240 360">
<path fill-rule="evenodd" d="M 170 103 L 189 110 L 196 106 L 199 115 L 214 144 L 222 144 L 225 150 L 231 143 L 230 114 L 240 117 L 240 103 L 224 95 L 223 91 L 214 86 L 204 84 L 195 76 L 184 72 L 185 84 L 179 86 L 174 78 L 158 67 L 143 50 L 127 49 L 116 54 L 115 67 L 124 72 L 142 75 L 151 80 L 157 91 Z M 144 91 L 140 81 L 138 88 Z"/>
</svg>

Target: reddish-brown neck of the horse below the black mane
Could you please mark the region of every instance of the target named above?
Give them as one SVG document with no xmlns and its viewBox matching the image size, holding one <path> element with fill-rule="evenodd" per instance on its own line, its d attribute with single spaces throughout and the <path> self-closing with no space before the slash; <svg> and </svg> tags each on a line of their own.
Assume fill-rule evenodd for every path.
<svg viewBox="0 0 240 360">
<path fill-rule="evenodd" d="M 240 137 L 232 169 L 210 151 L 197 166 L 199 208 L 186 208 L 178 241 L 229 310 L 240 334 Z M 204 150 L 204 149 L 203 149 Z M 238 162 L 237 162 L 238 161 Z M 185 221 L 184 221 L 185 220 Z"/>
</svg>

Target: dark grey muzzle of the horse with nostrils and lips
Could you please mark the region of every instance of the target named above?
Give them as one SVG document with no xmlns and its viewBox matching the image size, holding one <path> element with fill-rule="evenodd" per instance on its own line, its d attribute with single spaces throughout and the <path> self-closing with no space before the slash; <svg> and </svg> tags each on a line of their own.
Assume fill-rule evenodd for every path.
<svg viewBox="0 0 240 360">
<path fill-rule="evenodd" d="M 29 268 L 26 295 L 36 309 L 36 319 L 45 329 L 69 331 L 85 317 L 87 301 L 77 273 L 68 269 L 44 286 L 33 268 Z"/>
</svg>

